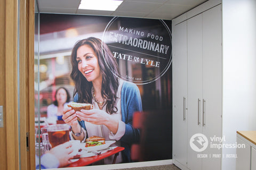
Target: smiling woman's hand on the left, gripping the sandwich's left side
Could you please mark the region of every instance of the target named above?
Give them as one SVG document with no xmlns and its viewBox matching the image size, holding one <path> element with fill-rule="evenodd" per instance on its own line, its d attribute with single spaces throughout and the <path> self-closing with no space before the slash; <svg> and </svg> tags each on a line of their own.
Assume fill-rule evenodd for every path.
<svg viewBox="0 0 256 170">
<path fill-rule="evenodd" d="M 62 119 L 70 126 L 76 126 L 78 124 L 76 113 L 71 107 L 65 107 L 63 109 Z"/>
</svg>

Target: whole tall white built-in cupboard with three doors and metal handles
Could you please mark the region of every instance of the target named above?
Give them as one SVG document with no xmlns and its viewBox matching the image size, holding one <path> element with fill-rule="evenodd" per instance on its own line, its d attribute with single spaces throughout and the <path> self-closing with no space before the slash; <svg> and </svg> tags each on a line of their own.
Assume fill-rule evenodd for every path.
<svg viewBox="0 0 256 170">
<path fill-rule="evenodd" d="M 211 148 L 221 137 L 221 40 L 221 5 L 173 24 L 173 163 L 181 169 L 221 169 L 211 158 L 221 154 Z M 209 142 L 201 152 L 190 147 L 196 133 Z"/>
</svg>

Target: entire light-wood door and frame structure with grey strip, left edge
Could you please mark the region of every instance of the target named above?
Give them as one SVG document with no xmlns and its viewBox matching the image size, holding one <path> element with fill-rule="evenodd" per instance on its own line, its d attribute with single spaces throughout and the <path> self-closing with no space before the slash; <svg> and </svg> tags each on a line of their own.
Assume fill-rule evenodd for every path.
<svg viewBox="0 0 256 170">
<path fill-rule="evenodd" d="M 1 1 L 0 18 L 0 164 L 3 169 L 35 169 L 34 0 Z"/>
</svg>

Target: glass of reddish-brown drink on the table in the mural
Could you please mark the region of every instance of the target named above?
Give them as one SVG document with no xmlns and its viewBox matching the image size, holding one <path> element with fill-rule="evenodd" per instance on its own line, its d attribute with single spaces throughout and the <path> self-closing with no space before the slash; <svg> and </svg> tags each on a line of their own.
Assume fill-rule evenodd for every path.
<svg viewBox="0 0 256 170">
<path fill-rule="evenodd" d="M 49 141 L 52 148 L 70 140 L 68 124 L 54 124 L 47 126 Z"/>
</svg>

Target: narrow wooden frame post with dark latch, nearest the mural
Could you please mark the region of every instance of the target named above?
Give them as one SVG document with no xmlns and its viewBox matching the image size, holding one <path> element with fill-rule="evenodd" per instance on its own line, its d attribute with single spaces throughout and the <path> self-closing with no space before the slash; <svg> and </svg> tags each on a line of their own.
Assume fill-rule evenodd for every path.
<svg viewBox="0 0 256 170">
<path fill-rule="evenodd" d="M 35 1 L 20 1 L 20 167 L 35 169 Z"/>
</svg>

